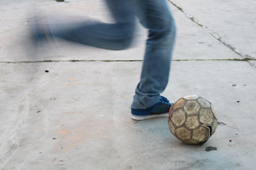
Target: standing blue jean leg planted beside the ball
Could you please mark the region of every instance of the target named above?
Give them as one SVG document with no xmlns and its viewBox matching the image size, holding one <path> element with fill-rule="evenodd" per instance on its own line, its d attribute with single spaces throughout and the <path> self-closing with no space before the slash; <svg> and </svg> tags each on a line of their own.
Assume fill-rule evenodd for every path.
<svg viewBox="0 0 256 170">
<path fill-rule="evenodd" d="M 148 29 L 148 39 L 131 108 L 146 109 L 159 101 L 168 83 L 176 29 L 165 0 L 143 0 L 138 4 L 138 17 Z"/>
</svg>

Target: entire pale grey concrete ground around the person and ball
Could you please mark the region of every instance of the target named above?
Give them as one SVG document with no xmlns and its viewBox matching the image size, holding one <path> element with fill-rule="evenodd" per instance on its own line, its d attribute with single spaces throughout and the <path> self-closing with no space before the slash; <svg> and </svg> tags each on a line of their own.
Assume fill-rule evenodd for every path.
<svg viewBox="0 0 256 170">
<path fill-rule="evenodd" d="M 214 104 L 219 124 L 207 143 L 182 144 L 167 118 L 130 118 L 147 37 L 142 27 L 124 51 L 58 42 L 31 55 L 35 5 L 60 20 L 109 22 L 106 6 L 1 0 L 0 169 L 255 169 L 255 1 L 168 4 L 178 35 L 163 96 L 175 102 L 198 94 Z M 208 146 L 217 150 L 206 152 Z"/>
</svg>

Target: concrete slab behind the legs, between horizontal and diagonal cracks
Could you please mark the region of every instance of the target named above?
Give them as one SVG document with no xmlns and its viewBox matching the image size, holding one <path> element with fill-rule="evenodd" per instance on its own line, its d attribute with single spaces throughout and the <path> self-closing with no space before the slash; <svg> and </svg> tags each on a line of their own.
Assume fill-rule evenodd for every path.
<svg viewBox="0 0 256 170">
<path fill-rule="evenodd" d="M 1 7 L 4 18 L 0 20 L 1 31 L 0 38 L 4 41 L 0 42 L 0 52 L 2 61 L 15 60 L 138 60 L 143 59 L 145 48 L 145 39 L 147 32 L 141 27 L 136 33 L 136 40 L 132 48 L 123 51 L 109 51 L 88 46 L 78 46 L 60 41 L 57 45 L 42 45 L 36 56 L 31 53 L 31 42 L 29 41 L 29 32 L 31 17 L 31 1 L 23 1 L 23 3 L 15 3 L 16 1 L 2 1 L 8 3 Z M 28 4 L 24 6 L 24 4 Z M 72 18 L 79 20 L 82 18 L 97 18 L 106 22 L 111 21 L 109 13 L 102 1 L 70 1 L 69 3 L 56 3 L 56 1 L 36 1 L 40 4 L 40 10 L 45 11 L 50 16 L 57 16 L 59 20 Z M 10 7 L 11 6 L 11 7 Z M 61 8 L 60 8 L 61 7 Z M 198 27 L 195 23 L 184 17 L 177 8 L 173 8 L 173 15 L 177 22 L 177 43 L 173 59 L 234 59 L 239 58 L 236 53 L 230 52 L 225 46 L 221 45 L 216 39 L 212 38 L 204 29 Z M 15 8 L 20 15 L 16 15 L 15 10 L 8 11 L 6 9 Z M 60 17 L 65 16 L 65 17 Z M 77 16 L 77 18 L 76 18 Z M 188 29 L 189 28 L 189 29 Z M 70 50 L 72 49 L 72 50 Z"/>
</svg>

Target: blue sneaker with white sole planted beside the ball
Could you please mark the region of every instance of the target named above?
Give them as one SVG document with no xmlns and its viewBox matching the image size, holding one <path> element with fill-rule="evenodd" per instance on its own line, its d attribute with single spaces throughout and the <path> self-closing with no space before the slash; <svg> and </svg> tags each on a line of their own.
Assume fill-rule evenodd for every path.
<svg viewBox="0 0 256 170">
<path fill-rule="evenodd" d="M 150 108 L 145 110 L 131 109 L 131 117 L 134 120 L 145 120 L 154 117 L 168 117 L 171 106 L 172 104 L 169 103 L 168 99 L 161 96 L 160 101 Z"/>
</svg>

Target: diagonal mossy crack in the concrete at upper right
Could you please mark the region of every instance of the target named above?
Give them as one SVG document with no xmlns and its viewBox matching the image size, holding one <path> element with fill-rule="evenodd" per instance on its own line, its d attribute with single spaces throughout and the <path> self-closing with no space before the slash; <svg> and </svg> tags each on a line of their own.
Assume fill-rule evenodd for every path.
<svg viewBox="0 0 256 170">
<path fill-rule="evenodd" d="M 209 29 L 207 26 L 201 24 L 200 22 L 198 22 L 197 20 L 195 20 L 195 17 L 191 17 L 190 15 L 188 15 L 188 13 L 186 13 L 180 6 L 178 6 L 177 4 L 173 3 L 171 0 L 168 0 L 171 4 L 173 4 L 173 6 L 175 6 L 179 11 L 181 11 L 182 13 L 184 13 L 185 17 L 189 18 L 192 22 L 194 22 L 195 24 L 199 25 L 200 27 L 202 27 L 202 29 L 204 29 L 206 32 L 208 32 L 213 38 L 217 39 L 218 41 L 220 41 L 221 44 L 225 45 L 227 48 L 229 48 L 232 52 L 236 53 L 237 55 L 239 55 L 240 57 L 242 57 L 243 59 L 253 59 L 253 57 L 251 57 L 250 55 L 243 55 L 241 52 L 239 52 L 236 47 L 228 44 L 227 42 L 225 42 L 223 39 L 221 39 L 221 36 L 218 35 L 218 33 L 212 31 L 211 29 Z M 253 66 L 252 63 L 250 63 L 251 66 Z"/>
</svg>

